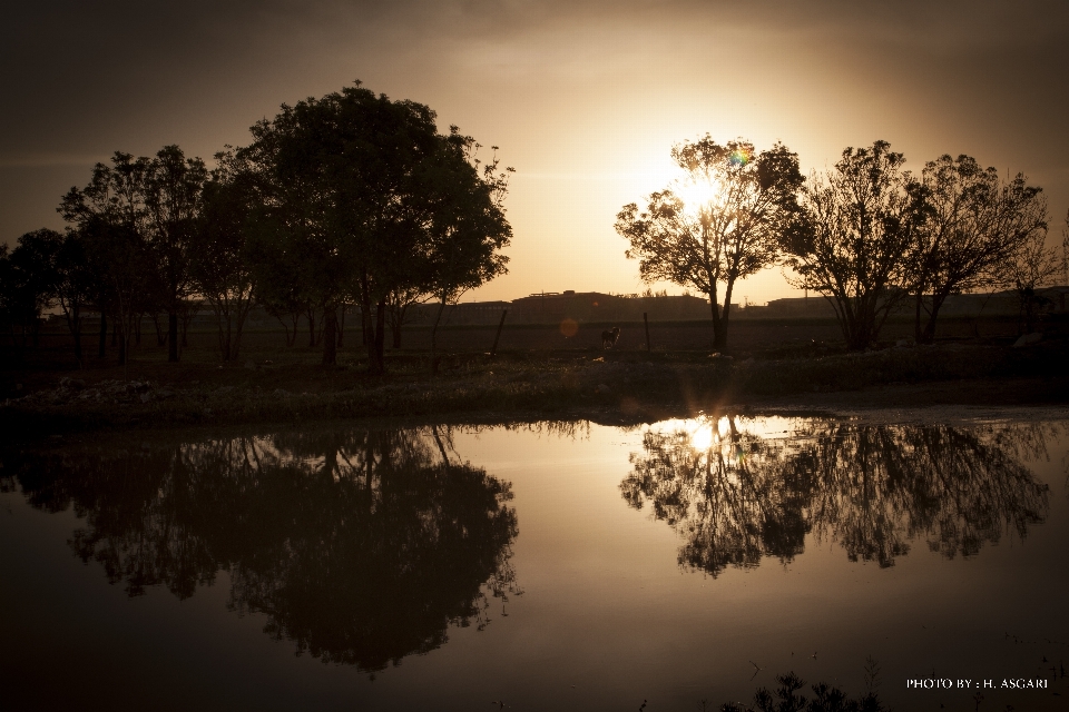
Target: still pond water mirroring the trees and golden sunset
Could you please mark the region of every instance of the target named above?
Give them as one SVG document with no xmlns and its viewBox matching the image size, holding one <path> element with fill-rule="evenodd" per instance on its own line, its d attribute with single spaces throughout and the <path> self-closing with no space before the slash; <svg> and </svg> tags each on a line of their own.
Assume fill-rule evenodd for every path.
<svg viewBox="0 0 1069 712">
<path fill-rule="evenodd" d="M 0 708 L 1065 709 L 1067 452 L 1027 412 L 8 448 Z"/>
</svg>

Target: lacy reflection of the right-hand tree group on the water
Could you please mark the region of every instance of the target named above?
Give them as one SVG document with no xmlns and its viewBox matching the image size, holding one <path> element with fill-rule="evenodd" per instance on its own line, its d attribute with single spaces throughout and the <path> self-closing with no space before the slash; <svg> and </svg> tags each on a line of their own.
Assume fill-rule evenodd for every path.
<svg viewBox="0 0 1069 712">
<path fill-rule="evenodd" d="M 647 432 L 620 485 L 631 506 L 648 502 L 684 536 L 681 565 L 713 575 L 762 556 L 790 561 L 811 531 L 851 561 L 891 566 L 920 537 L 967 556 L 1046 516 L 1047 486 L 1007 446 L 1013 428 L 814 421 L 791 439 L 762 439 L 727 423 L 723 436 Z M 1021 436 L 1017 449 L 1034 451 L 1036 434 Z"/>
</svg>

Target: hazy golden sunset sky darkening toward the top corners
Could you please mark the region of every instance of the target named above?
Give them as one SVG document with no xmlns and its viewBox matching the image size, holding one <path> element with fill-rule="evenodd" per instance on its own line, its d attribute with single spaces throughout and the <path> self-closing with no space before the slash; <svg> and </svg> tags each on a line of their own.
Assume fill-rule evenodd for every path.
<svg viewBox="0 0 1069 712">
<path fill-rule="evenodd" d="M 0 240 L 116 150 L 210 158 L 282 103 L 354 80 L 516 168 L 509 274 L 463 300 L 646 288 L 614 230 L 673 145 L 776 140 L 803 172 L 891 142 L 1023 172 L 1069 209 L 1065 0 L 37 0 L 0 10 Z M 681 293 L 680 287 L 669 293 Z M 793 296 L 772 268 L 738 301 Z"/>
</svg>

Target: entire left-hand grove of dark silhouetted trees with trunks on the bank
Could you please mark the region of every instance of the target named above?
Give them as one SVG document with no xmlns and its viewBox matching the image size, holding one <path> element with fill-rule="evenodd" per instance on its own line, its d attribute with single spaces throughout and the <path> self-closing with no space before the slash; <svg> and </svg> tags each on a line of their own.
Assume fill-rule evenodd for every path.
<svg viewBox="0 0 1069 712">
<path fill-rule="evenodd" d="M 36 340 L 42 310 L 58 304 L 79 363 L 90 308 L 100 313 L 101 358 L 109 323 L 125 363 L 149 316 L 176 362 L 180 325 L 203 300 L 229 360 L 258 304 L 286 326 L 287 345 L 307 318 L 330 365 L 355 305 L 381 372 L 388 322 L 399 326 L 429 298 L 444 308 L 507 271 L 512 169 L 500 167 L 497 147 L 483 162 L 482 147 L 455 126 L 440 134 L 426 106 L 357 81 L 283 105 L 251 132 L 248 146 L 217 152 L 213 169 L 178 146 L 97 164 L 88 185 L 62 197 L 65 234 L 40 229 L 0 249 L 0 313 L 12 340 L 16 324 L 23 347 L 27 330 Z"/>
</svg>

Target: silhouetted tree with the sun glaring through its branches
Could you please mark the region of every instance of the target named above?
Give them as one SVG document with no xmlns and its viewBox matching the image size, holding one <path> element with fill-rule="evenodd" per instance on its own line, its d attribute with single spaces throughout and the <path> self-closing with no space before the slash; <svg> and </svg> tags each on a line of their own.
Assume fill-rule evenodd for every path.
<svg viewBox="0 0 1069 712">
<path fill-rule="evenodd" d="M 644 280 L 708 297 L 714 345 L 724 348 L 735 283 L 776 263 L 778 236 L 797 210 L 798 157 L 782 144 L 756 152 L 744 139 L 722 146 L 708 135 L 676 146 L 671 157 L 686 178 L 650 195 L 643 210 L 625 206 L 616 230 Z"/>
</svg>

